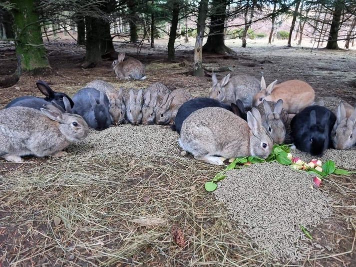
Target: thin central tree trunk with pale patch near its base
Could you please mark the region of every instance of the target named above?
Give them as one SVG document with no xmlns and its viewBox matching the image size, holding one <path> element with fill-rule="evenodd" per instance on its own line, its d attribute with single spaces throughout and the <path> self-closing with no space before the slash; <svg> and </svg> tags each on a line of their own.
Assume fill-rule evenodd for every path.
<svg viewBox="0 0 356 267">
<path fill-rule="evenodd" d="M 200 0 L 199 3 L 197 37 L 195 39 L 195 47 L 194 47 L 193 76 L 200 76 L 200 77 L 204 76 L 203 39 L 204 39 L 206 15 L 208 12 L 208 2 L 209 0 Z"/>
</svg>

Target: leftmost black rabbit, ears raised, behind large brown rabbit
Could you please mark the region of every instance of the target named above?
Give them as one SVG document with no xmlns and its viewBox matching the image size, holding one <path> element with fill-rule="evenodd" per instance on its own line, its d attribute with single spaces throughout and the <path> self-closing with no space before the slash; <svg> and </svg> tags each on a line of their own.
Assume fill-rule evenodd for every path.
<svg viewBox="0 0 356 267">
<path fill-rule="evenodd" d="M 10 101 L 5 106 L 5 108 L 22 106 L 22 107 L 30 107 L 39 110 L 44 104 L 50 103 L 51 101 L 54 101 L 55 103 L 59 104 L 62 108 L 65 108 L 63 103 L 64 96 L 69 100 L 71 107 L 73 107 L 74 102 L 72 101 L 72 99 L 70 99 L 68 95 L 66 95 L 65 93 L 59 93 L 53 91 L 45 81 L 37 80 L 36 86 L 41 91 L 41 93 L 44 94 L 46 97 L 41 98 L 41 97 L 30 96 L 30 95 L 20 96 Z"/>
</svg>

